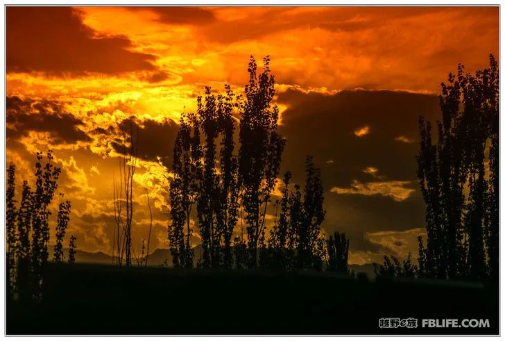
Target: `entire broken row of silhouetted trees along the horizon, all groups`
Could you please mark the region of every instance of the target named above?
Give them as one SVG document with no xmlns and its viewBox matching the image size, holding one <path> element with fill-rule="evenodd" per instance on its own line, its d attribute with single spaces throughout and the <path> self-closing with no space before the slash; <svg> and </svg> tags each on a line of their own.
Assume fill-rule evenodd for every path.
<svg viewBox="0 0 505 341">
<path fill-rule="evenodd" d="M 349 240 L 335 232 L 328 238 L 320 169 L 305 158 L 305 184 L 292 183 L 291 172 L 279 181 L 286 140 L 277 132 L 279 110 L 273 103 L 275 80 L 270 59 L 261 72 L 253 57 L 243 94 L 229 85 L 223 94 L 206 88 L 195 113 L 184 113 L 173 147 L 169 172 L 169 249 L 173 267 L 224 269 L 329 270 L 349 274 Z M 417 264 L 412 256 L 384 256 L 374 264 L 379 276 L 418 278 L 497 278 L 499 257 L 499 70 L 475 74 L 459 65 L 442 83 L 436 134 L 419 119 L 416 157 L 420 190 L 426 203 L 427 238 L 418 238 Z M 238 143 L 237 143 L 237 142 Z M 114 181 L 115 265 L 147 265 L 149 241 L 142 254 L 132 247 L 133 174 L 137 144 L 123 143 L 119 183 Z M 138 126 L 137 126 L 138 142 Z M 7 169 L 7 272 L 11 297 L 33 301 L 42 295 L 49 256 L 49 206 L 61 169 L 52 151 L 37 153 L 35 186 L 22 182 L 15 198 L 15 165 Z M 277 184 L 279 182 L 279 184 Z M 278 190 L 278 192 L 277 192 Z M 151 216 L 152 212 L 148 201 Z M 71 203 L 60 194 L 52 260 L 62 262 Z M 273 212 L 273 214 L 270 214 Z M 151 235 L 151 228 L 149 235 Z M 198 233 L 202 254 L 196 259 L 191 236 Z M 133 253 L 132 253 L 133 252 Z M 69 262 L 76 238 L 69 241 Z"/>
</svg>

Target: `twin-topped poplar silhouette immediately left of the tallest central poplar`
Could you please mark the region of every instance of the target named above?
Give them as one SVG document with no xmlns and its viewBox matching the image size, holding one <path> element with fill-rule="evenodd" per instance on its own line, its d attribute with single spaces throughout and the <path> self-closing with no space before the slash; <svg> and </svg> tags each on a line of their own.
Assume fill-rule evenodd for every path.
<svg viewBox="0 0 505 341">
<path fill-rule="evenodd" d="M 225 85 L 217 97 L 206 88 L 198 98 L 197 117 L 204 140 L 203 174 L 198 194 L 198 223 L 202 235 L 203 266 L 230 267 L 231 240 L 238 220 L 237 156 L 234 155 L 234 94 Z M 218 149 L 216 143 L 221 141 Z"/>
</svg>

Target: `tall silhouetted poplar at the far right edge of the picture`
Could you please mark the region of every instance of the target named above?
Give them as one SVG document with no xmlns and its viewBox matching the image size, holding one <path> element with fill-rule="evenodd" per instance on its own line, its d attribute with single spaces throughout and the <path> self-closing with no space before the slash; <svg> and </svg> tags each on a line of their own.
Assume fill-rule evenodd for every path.
<svg viewBox="0 0 505 341">
<path fill-rule="evenodd" d="M 474 75 L 467 74 L 462 91 L 463 115 L 468 116 L 465 146 L 469 149 L 466 154 L 470 193 L 465 219 L 469 225 L 468 263 L 472 278 L 497 278 L 498 273 L 499 71 L 493 56 L 489 64 L 489 68 Z"/>
</svg>

